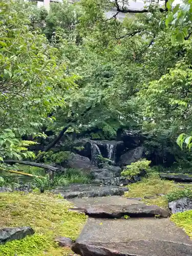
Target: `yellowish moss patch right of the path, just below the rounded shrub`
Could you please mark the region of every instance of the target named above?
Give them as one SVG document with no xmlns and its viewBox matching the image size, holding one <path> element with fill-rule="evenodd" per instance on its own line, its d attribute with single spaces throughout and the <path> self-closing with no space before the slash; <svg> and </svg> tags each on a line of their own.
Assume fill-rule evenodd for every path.
<svg viewBox="0 0 192 256">
<path fill-rule="evenodd" d="M 180 188 L 179 186 L 183 186 Z M 125 193 L 126 197 L 139 197 L 148 205 L 158 205 L 168 208 L 166 196 L 173 191 L 192 188 L 191 184 L 174 183 L 174 181 L 163 180 L 159 178 L 159 174 L 151 173 L 148 178 L 143 178 L 140 182 L 129 185 L 129 191 Z M 153 197 L 146 199 L 144 197 Z"/>
</svg>

